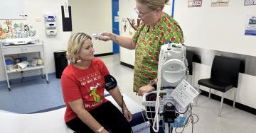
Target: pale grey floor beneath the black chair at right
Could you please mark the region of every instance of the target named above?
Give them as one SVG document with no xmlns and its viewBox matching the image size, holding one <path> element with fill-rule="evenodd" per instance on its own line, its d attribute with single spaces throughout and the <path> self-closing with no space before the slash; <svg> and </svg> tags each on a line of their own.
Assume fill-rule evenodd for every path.
<svg viewBox="0 0 256 133">
<path fill-rule="evenodd" d="M 253 125 L 256 122 L 255 115 L 223 104 L 222 117 L 218 117 L 219 105 L 220 102 L 217 100 L 209 100 L 206 96 L 200 96 L 198 106 L 193 108 L 193 113 L 199 117 L 198 123 L 194 125 L 194 132 L 256 132 L 256 125 Z M 185 131 L 191 132 L 191 124 Z"/>
</svg>

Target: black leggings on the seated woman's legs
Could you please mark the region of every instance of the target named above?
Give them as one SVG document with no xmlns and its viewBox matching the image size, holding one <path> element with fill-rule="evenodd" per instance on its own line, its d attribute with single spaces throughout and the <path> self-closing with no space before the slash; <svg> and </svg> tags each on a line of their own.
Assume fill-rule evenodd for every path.
<svg viewBox="0 0 256 133">
<path fill-rule="evenodd" d="M 105 129 L 111 133 L 131 133 L 132 128 L 122 112 L 120 112 L 110 101 L 103 103 L 100 107 L 89 111 L 92 117 L 97 120 Z M 82 120 L 75 117 L 66 122 L 66 125 L 78 133 L 94 133 Z"/>
</svg>

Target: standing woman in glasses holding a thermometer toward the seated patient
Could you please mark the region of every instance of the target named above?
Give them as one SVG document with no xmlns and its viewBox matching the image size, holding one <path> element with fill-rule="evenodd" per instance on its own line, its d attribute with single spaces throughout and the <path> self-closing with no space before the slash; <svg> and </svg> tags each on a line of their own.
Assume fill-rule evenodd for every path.
<svg viewBox="0 0 256 133">
<path fill-rule="evenodd" d="M 183 43 L 183 32 L 178 23 L 163 12 L 169 0 L 136 0 L 134 11 L 141 18 L 132 38 L 113 33 L 102 33 L 107 37 L 99 40 L 112 40 L 119 46 L 135 50 L 133 90 L 142 96 L 156 89 L 157 68 L 161 45 L 169 42 Z"/>
</svg>

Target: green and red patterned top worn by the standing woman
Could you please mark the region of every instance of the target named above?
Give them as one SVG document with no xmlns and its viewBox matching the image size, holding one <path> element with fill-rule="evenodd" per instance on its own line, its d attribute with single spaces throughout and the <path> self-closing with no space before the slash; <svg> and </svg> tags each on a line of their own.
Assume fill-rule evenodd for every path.
<svg viewBox="0 0 256 133">
<path fill-rule="evenodd" d="M 139 25 L 132 37 L 135 46 L 134 86 L 139 88 L 156 79 L 161 45 L 169 40 L 174 43 L 183 43 L 183 32 L 178 23 L 164 13 L 154 26 Z"/>
</svg>

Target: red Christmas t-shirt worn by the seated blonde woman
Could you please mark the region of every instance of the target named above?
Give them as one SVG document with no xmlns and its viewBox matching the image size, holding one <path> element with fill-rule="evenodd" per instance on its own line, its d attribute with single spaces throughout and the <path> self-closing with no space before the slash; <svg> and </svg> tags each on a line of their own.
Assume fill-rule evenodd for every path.
<svg viewBox="0 0 256 133">
<path fill-rule="evenodd" d="M 65 111 L 65 122 L 73 120 L 78 115 L 73 112 L 68 102 L 82 98 L 85 110 L 93 110 L 102 103 L 107 102 L 104 97 L 105 76 L 109 74 L 104 62 L 100 59 L 92 59 L 90 67 L 78 69 L 69 64 L 61 76 L 61 87 L 63 98 L 67 106 Z"/>
</svg>

